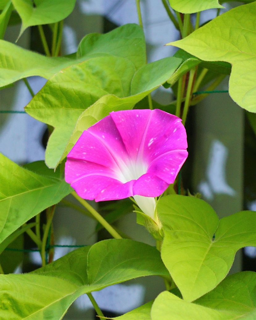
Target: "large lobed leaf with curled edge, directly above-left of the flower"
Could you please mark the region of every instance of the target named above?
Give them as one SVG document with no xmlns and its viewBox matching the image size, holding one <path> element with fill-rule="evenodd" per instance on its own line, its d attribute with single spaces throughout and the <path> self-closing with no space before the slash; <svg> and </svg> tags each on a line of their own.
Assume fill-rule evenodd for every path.
<svg viewBox="0 0 256 320">
<path fill-rule="evenodd" d="M 29 115 L 55 127 L 46 148 L 46 164 L 55 168 L 84 130 L 111 111 L 133 108 L 169 79 L 180 62 L 164 58 L 136 71 L 130 60 L 108 55 L 53 76 L 25 108 Z"/>
</svg>

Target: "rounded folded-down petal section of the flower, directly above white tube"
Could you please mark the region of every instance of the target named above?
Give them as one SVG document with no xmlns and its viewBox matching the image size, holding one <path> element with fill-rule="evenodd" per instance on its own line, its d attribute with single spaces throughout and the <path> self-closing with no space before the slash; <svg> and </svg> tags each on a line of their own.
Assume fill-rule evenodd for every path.
<svg viewBox="0 0 256 320">
<path fill-rule="evenodd" d="M 133 194 L 145 197 L 158 197 L 167 188 L 168 183 L 164 180 L 145 173 L 133 185 Z"/>
</svg>

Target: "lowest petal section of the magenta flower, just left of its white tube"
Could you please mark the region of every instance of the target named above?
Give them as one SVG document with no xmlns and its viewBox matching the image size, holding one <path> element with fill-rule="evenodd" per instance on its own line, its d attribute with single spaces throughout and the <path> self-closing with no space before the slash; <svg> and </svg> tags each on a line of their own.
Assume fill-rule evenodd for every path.
<svg viewBox="0 0 256 320">
<path fill-rule="evenodd" d="M 132 186 L 136 180 L 118 184 L 112 183 L 103 189 L 96 197 L 95 201 L 118 200 L 133 196 Z"/>
</svg>

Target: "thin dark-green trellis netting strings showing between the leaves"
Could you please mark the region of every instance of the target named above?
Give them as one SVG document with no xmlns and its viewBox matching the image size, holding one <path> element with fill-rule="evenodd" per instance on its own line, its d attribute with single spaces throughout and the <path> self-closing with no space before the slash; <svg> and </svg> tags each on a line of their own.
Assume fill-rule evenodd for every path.
<svg viewBox="0 0 256 320">
<path fill-rule="evenodd" d="M 203 93 L 228 93 L 228 90 L 212 90 L 212 91 L 196 91 L 193 92 L 193 94 L 203 94 Z M 26 113 L 25 111 L 13 111 L 13 110 L 0 110 L 0 113 Z M 178 174 L 178 194 L 180 195 L 181 191 L 181 173 Z M 61 245 L 61 244 L 55 244 L 55 245 L 49 245 L 50 242 L 50 232 L 49 230 L 49 236 L 47 239 L 47 246 L 46 246 L 46 254 L 48 255 L 49 250 L 52 248 L 82 248 L 86 247 L 87 244 L 82 245 Z M 19 252 L 40 252 L 39 249 L 15 249 L 15 248 L 5 248 L 4 250 L 8 251 L 19 251 Z"/>
</svg>

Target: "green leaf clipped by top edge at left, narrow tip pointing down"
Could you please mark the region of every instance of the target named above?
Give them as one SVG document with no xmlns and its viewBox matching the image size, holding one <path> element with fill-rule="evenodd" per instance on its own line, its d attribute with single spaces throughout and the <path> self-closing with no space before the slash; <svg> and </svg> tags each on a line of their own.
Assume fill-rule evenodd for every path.
<svg viewBox="0 0 256 320">
<path fill-rule="evenodd" d="M 76 0 L 12 0 L 20 15 L 20 35 L 30 26 L 54 23 L 65 19 L 74 9 Z M 35 7 L 34 7 L 35 4 Z"/>
</svg>

